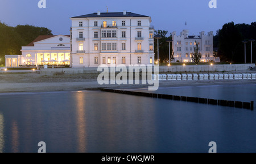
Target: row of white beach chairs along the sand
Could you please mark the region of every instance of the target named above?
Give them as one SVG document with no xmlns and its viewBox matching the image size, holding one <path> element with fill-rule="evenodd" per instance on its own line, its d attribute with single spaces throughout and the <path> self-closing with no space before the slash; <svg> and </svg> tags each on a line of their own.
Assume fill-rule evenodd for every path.
<svg viewBox="0 0 256 164">
<path fill-rule="evenodd" d="M 152 80 L 240 80 L 256 79 L 256 74 L 156 74 Z"/>
</svg>

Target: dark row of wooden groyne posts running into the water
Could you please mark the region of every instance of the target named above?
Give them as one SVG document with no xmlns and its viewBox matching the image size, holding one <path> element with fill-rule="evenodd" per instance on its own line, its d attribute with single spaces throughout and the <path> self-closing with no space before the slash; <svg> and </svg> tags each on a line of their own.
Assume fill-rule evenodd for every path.
<svg viewBox="0 0 256 164">
<path fill-rule="evenodd" d="M 219 105 L 219 106 L 229 106 L 229 107 L 237 107 L 237 108 L 250 109 L 250 110 L 254 109 L 254 101 L 241 102 L 241 101 L 215 100 L 215 99 L 211 99 L 211 98 L 175 96 L 175 95 L 169 95 L 169 94 L 135 92 L 135 91 L 131 91 L 131 90 L 117 90 L 117 89 L 106 89 L 106 88 L 101 88 L 100 90 L 104 91 L 104 92 L 130 94 L 130 95 L 134 95 L 134 96 L 164 98 L 164 99 L 168 99 L 168 100 L 196 102 L 196 103 Z"/>
</svg>

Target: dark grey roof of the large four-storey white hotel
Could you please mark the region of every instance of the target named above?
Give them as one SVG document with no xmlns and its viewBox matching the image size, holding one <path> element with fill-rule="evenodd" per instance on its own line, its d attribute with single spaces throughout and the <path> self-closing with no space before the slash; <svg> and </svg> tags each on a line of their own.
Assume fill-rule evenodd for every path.
<svg viewBox="0 0 256 164">
<path fill-rule="evenodd" d="M 94 12 L 93 14 L 74 16 L 72 18 L 104 18 L 104 17 L 149 17 L 149 16 L 135 14 L 133 12 L 126 12 L 126 15 L 123 15 L 123 12 L 101 12 L 100 15 L 98 15 L 97 12 Z"/>
</svg>

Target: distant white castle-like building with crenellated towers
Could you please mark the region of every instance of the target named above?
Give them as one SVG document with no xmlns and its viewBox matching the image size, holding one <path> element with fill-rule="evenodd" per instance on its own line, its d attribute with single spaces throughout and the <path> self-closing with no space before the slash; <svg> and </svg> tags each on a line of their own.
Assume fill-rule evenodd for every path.
<svg viewBox="0 0 256 164">
<path fill-rule="evenodd" d="M 208 32 L 207 35 L 204 31 L 200 32 L 199 36 L 189 36 L 188 30 L 183 30 L 180 35 L 177 36 L 176 32 L 172 32 L 172 50 L 174 51 L 173 62 L 193 62 L 192 54 L 196 42 L 199 42 L 199 51 L 202 55 L 201 62 L 220 62 L 220 58 L 213 57 L 213 32 Z"/>
</svg>

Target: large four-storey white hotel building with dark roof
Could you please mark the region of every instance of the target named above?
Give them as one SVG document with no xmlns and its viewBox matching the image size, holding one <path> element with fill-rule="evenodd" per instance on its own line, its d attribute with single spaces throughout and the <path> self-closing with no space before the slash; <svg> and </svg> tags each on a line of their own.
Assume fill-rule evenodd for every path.
<svg viewBox="0 0 256 164">
<path fill-rule="evenodd" d="M 154 64 L 150 16 L 94 12 L 71 18 L 71 66 Z"/>
</svg>

